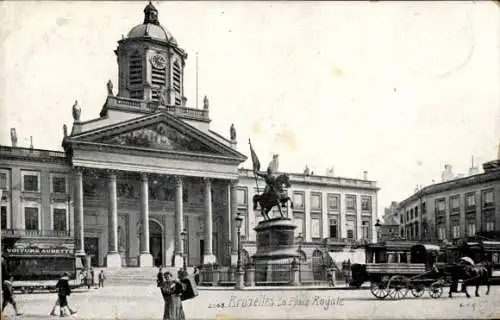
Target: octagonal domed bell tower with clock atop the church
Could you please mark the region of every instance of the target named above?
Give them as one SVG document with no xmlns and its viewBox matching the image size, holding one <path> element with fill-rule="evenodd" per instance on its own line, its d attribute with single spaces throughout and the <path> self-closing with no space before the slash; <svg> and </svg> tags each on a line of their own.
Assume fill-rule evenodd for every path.
<svg viewBox="0 0 500 320">
<path fill-rule="evenodd" d="M 118 96 L 160 105 L 182 106 L 187 53 L 160 25 L 151 2 L 144 8 L 144 22 L 118 41 Z"/>
</svg>

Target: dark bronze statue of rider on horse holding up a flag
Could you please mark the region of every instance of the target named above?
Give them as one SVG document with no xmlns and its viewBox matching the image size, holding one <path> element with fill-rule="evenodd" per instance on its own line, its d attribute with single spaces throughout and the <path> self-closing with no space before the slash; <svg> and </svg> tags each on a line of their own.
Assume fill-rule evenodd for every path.
<svg viewBox="0 0 500 320">
<path fill-rule="evenodd" d="M 265 172 L 260 172 L 259 159 L 252 148 L 250 140 L 248 142 L 250 144 L 250 153 L 252 155 L 253 172 L 255 175 L 255 183 L 257 184 L 257 192 L 259 192 L 257 176 L 263 178 L 266 183 L 264 192 L 256 194 L 253 197 L 253 209 L 257 210 L 259 206 L 262 217 L 264 217 L 265 220 L 269 220 L 269 211 L 271 211 L 275 206 L 278 206 L 281 218 L 284 218 L 285 216 L 283 215 L 282 208 L 285 208 L 289 201 L 290 207 L 293 209 L 293 201 L 284 190 L 284 188 L 291 187 L 290 177 L 286 173 L 275 176 L 277 174 L 277 155 L 273 156 L 273 160 L 269 164 L 267 170 Z"/>
</svg>

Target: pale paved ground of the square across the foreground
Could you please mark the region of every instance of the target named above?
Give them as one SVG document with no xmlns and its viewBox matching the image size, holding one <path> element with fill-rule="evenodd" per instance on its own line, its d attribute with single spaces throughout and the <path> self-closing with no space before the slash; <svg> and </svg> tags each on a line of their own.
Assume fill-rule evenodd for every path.
<svg viewBox="0 0 500 320">
<path fill-rule="evenodd" d="M 485 289 L 480 292 L 484 293 Z M 55 294 L 18 295 L 19 319 L 48 319 Z M 161 319 L 163 301 L 154 286 L 108 287 L 74 293 L 70 305 L 78 319 Z M 489 296 L 467 299 L 443 294 L 432 299 L 376 300 L 369 290 L 234 291 L 201 290 L 185 302 L 187 319 L 332 319 L 332 318 L 499 318 L 500 287 Z M 497 306 L 495 306 L 497 305 Z M 495 316 L 496 315 L 496 316 Z M 4 319 L 15 319 L 7 307 Z M 54 318 L 55 319 L 55 318 Z"/>
</svg>

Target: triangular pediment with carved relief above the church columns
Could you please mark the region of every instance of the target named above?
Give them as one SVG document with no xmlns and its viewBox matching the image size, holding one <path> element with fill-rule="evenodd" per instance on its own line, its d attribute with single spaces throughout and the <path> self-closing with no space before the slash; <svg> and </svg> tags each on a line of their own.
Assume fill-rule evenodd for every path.
<svg viewBox="0 0 500 320">
<path fill-rule="evenodd" d="M 68 137 L 68 142 L 132 149 L 205 154 L 245 160 L 245 156 L 207 133 L 166 113 L 156 113 Z"/>
</svg>

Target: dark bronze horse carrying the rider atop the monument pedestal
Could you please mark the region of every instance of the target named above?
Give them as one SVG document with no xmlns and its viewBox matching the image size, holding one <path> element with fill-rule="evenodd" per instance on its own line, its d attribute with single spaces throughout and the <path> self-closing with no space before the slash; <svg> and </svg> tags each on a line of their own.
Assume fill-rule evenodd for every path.
<svg viewBox="0 0 500 320">
<path fill-rule="evenodd" d="M 281 217 L 284 217 L 281 207 L 285 207 L 290 201 L 290 206 L 293 209 L 292 199 L 283 191 L 283 187 L 290 188 L 290 186 L 290 177 L 287 174 L 277 176 L 274 186 L 269 186 L 262 194 L 253 196 L 253 209 L 257 210 L 257 204 L 259 204 L 260 213 L 264 219 L 269 220 L 269 211 L 274 206 L 278 206 Z"/>
</svg>

